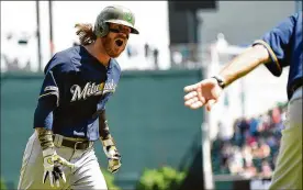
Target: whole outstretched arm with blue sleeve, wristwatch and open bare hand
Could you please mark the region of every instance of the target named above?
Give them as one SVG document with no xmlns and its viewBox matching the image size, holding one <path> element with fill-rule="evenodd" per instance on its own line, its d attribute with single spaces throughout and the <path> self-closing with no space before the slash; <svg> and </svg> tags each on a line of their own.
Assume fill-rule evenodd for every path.
<svg viewBox="0 0 303 190">
<path fill-rule="evenodd" d="M 211 107 L 218 100 L 223 88 L 246 76 L 261 64 L 274 75 L 282 74 L 293 34 L 294 21 L 299 14 L 293 14 L 267 32 L 261 40 L 229 62 L 215 78 L 204 79 L 198 83 L 184 87 L 184 104 L 190 109 Z M 302 14 L 301 14 L 302 16 Z"/>
</svg>

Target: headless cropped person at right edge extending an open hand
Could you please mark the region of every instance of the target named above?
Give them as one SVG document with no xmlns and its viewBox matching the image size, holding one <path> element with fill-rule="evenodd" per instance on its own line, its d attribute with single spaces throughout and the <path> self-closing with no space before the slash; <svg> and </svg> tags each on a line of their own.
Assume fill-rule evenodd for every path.
<svg viewBox="0 0 303 190">
<path fill-rule="evenodd" d="M 270 189 L 302 189 L 302 11 L 267 32 L 261 40 L 227 64 L 217 76 L 184 87 L 184 104 L 210 111 L 224 88 L 261 64 L 279 77 L 289 66 L 288 118 Z"/>
</svg>

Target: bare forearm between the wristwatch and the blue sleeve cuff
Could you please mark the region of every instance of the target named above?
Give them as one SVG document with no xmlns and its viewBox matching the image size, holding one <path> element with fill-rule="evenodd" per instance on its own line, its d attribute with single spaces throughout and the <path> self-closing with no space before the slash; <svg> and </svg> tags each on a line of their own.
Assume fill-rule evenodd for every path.
<svg viewBox="0 0 303 190">
<path fill-rule="evenodd" d="M 247 51 L 235 57 L 221 71 L 220 76 L 224 78 L 225 86 L 246 76 L 260 64 L 270 60 L 267 49 L 261 45 L 249 47 Z"/>
</svg>

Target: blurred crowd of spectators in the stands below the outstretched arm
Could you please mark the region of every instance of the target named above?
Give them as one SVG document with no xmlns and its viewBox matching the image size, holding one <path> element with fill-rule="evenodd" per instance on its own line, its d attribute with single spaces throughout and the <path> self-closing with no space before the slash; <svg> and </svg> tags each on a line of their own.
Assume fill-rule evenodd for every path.
<svg viewBox="0 0 303 190">
<path fill-rule="evenodd" d="M 218 137 L 213 142 L 214 172 L 270 179 L 284 120 L 285 105 L 277 105 L 255 118 L 236 120 L 231 138 Z"/>
</svg>

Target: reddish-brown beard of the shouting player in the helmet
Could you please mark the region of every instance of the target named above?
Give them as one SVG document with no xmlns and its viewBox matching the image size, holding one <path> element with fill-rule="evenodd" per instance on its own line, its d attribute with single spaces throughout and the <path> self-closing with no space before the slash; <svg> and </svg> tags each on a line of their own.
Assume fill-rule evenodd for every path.
<svg viewBox="0 0 303 190">
<path fill-rule="evenodd" d="M 119 36 L 116 38 L 119 38 Z M 112 58 L 119 57 L 126 46 L 126 42 L 124 42 L 121 46 L 116 45 L 115 38 L 111 38 L 109 35 L 102 37 L 101 42 L 105 53 Z"/>
</svg>

